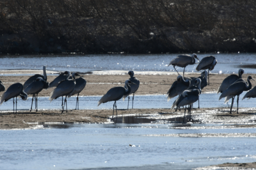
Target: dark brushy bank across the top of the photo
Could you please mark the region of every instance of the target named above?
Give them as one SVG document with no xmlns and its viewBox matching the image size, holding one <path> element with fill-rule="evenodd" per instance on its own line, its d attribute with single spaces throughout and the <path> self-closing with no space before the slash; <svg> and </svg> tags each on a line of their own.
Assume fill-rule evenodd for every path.
<svg viewBox="0 0 256 170">
<path fill-rule="evenodd" d="M 1 0 L 3 53 L 256 52 L 255 0 Z"/>
</svg>

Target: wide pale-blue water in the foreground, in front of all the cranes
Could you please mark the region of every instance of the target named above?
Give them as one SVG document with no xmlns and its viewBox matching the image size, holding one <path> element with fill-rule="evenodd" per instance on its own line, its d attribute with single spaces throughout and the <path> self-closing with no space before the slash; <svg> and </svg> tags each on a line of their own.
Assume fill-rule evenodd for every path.
<svg viewBox="0 0 256 170">
<path fill-rule="evenodd" d="M 256 133 L 255 128 L 197 129 L 198 125 L 191 124 L 195 129 L 176 129 L 172 128 L 175 124 L 64 124 L 37 130 L 1 130 L 0 169 L 187 170 L 255 161 L 255 137 L 157 136 Z"/>
</svg>

